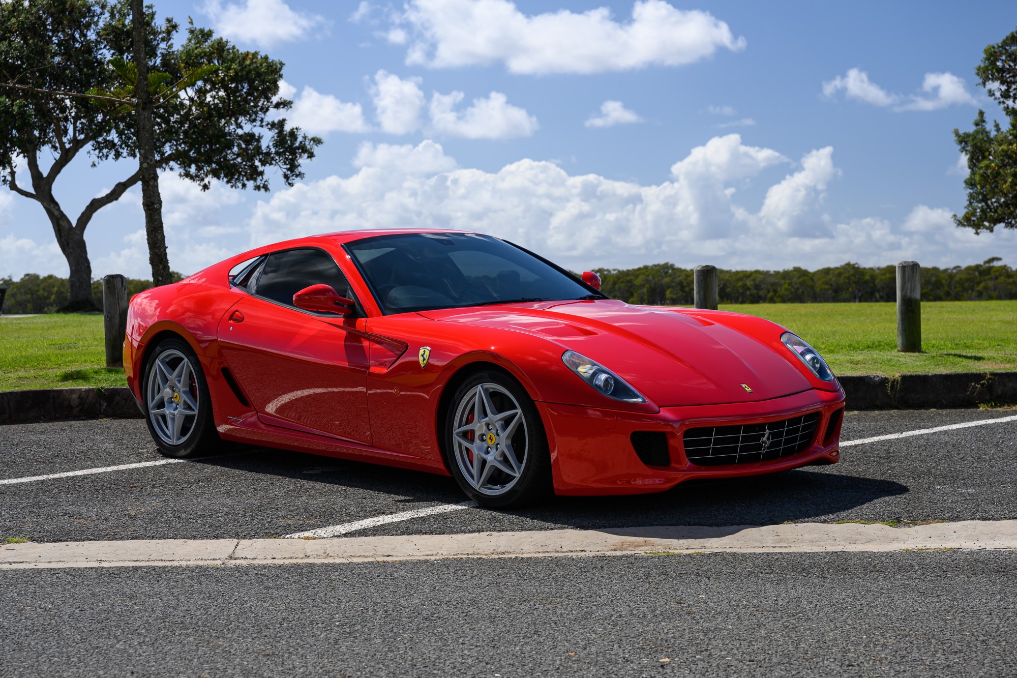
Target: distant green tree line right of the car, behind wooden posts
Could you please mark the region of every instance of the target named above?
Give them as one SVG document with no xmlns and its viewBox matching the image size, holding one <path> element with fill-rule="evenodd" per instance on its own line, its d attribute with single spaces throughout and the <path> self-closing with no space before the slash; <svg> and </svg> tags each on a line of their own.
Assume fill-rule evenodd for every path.
<svg viewBox="0 0 1017 678">
<path fill-rule="evenodd" d="M 1017 299 L 1017 270 L 994 257 L 974 266 L 921 268 L 924 301 Z M 651 305 L 692 305 L 693 270 L 673 264 L 636 269 L 598 269 L 608 296 Z M 812 303 L 817 301 L 896 301 L 896 267 L 843 264 L 806 271 L 719 272 L 721 303 Z"/>
</svg>

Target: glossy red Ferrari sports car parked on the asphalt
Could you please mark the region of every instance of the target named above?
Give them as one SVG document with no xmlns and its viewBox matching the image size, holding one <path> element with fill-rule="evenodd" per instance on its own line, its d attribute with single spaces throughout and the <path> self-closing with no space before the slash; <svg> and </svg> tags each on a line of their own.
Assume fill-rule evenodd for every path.
<svg viewBox="0 0 1017 678">
<path fill-rule="evenodd" d="M 599 287 L 480 233 L 305 237 L 135 295 L 124 365 L 166 455 L 373 461 L 488 506 L 837 461 L 844 392 L 800 338 Z"/>
</svg>

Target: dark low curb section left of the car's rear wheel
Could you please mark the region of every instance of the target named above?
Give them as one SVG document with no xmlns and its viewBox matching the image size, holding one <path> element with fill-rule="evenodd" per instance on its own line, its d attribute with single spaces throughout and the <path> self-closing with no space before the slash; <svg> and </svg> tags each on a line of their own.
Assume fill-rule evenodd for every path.
<svg viewBox="0 0 1017 678">
<path fill-rule="evenodd" d="M 113 386 L 0 392 L 0 423 L 105 417 L 141 417 L 130 389 Z"/>
</svg>

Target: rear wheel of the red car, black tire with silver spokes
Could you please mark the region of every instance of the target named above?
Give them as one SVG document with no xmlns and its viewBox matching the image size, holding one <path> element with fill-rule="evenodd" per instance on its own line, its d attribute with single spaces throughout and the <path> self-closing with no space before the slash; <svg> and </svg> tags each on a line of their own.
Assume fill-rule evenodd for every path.
<svg viewBox="0 0 1017 678">
<path fill-rule="evenodd" d="M 144 361 L 141 405 L 145 423 L 148 425 L 148 434 L 156 442 L 156 447 L 163 455 L 176 458 L 217 451 L 216 448 L 221 447 L 223 442 L 216 431 L 208 383 L 205 381 L 197 355 L 186 341 L 178 337 L 163 339 L 149 350 Z M 187 360 L 190 373 L 186 376 L 185 389 L 172 383 L 172 374 L 169 375 L 171 379 L 167 380 L 167 365 L 175 371 L 181 366 L 182 360 Z M 181 377 L 184 375 L 181 374 Z M 155 384 L 153 380 L 157 380 Z M 163 380 L 166 383 L 160 390 Z M 163 394 L 162 400 L 159 400 L 160 396 L 156 395 L 157 393 Z M 172 412 L 161 411 L 160 404 L 164 410 L 173 410 L 175 414 L 171 417 Z M 191 404 L 195 405 L 194 410 L 196 410 L 193 415 L 187 413 Z M 174 430 L 178 416 L 181 417 L 181 427 Z M 173 442 L 174 434 L 176 443 Z"/>
</svg>

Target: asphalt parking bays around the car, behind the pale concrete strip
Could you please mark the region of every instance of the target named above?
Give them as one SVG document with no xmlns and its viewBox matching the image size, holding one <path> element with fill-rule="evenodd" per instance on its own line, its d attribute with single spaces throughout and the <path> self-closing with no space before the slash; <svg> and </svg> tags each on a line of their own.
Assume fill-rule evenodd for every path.
<svg viewBox="0 0 1017 678">
<path fill-rule="evenodd" d="M 850 412 L 843 440 L 1013 413 Z M 833 466 L 642 497 L 554 498 L 522 511 L 472 508 L 356 533 L 1015 518 L 1015 433 L 1017 422 L 945 431 L 845 447 Z M 140 420 L 0 428 L 0 478 L 158 459 Z M 37 542 L 282 536 L 464 499 L 448 477 L 243 447 L 202 461 L 0 485 L 0 534 Z"/>
</svg>

